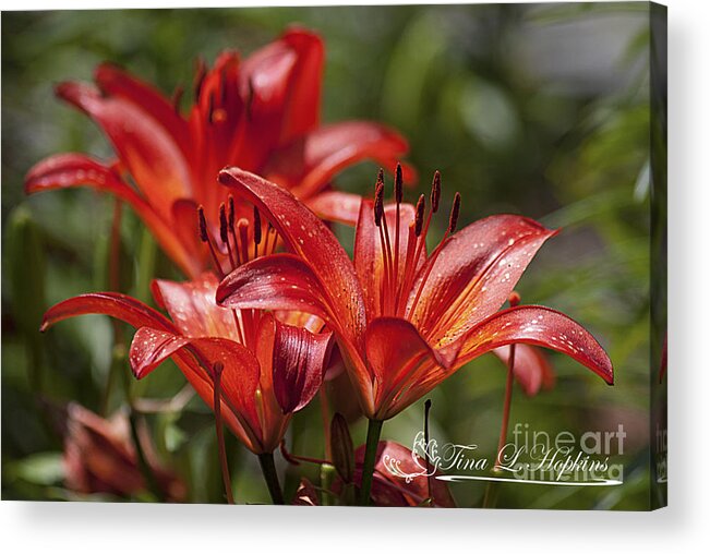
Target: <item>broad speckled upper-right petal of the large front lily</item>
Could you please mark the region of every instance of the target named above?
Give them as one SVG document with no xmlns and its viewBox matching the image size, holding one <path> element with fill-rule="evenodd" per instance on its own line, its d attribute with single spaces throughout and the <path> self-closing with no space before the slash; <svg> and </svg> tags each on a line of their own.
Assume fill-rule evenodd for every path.
<svg viewBox="0 0 710 554">
<path fill-rule="evenodd" d="M 532 256 L 556 232 L 515 215 L 491 216 L 465 227 L 442 249 L 410 320 L 436 348 L 456 341 L 501 309 Z M 414 284 L 408 311 L 422 277 Z"/>
</svg>

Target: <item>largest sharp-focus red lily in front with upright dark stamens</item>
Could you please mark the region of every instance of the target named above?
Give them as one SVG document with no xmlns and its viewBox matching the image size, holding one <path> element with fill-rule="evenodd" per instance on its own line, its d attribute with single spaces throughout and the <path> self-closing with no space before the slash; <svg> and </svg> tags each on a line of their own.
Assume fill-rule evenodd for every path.
<svg viewBox="0 0 710 554">
<path fill-rule="evenodd" d="M 458 368 L 495 348 L 525 342 L 570 356 L 613 383 L 612 363 L 578 323 L 544 306 L 498 311 L 528 263 L 556 231 L 520 216 L 476 221 L 454 234 L 457 194 L 444 239 L 431 254 L 425 237 L 438 208 L 363 200 L 354 261 L 327 227 L 288 191 L 246 171 L 221 171 L 222 183 L 252 202 L 288 253 L 239 267 L 217 289 L 234 309 L 302 310 L 335 333 L 362 409 L 371 420 L 397 414 Z"/>
</svg>

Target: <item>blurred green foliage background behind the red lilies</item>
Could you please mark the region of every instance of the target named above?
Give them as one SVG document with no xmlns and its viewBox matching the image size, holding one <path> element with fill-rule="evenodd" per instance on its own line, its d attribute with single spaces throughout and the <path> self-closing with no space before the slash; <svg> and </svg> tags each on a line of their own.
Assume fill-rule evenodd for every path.
<svg viewBox="0 0 710 554">
<path fill-rule="evenodd" d="M 248 53 L 286 25 L 326 40 L 323 120 L 380 120 L 411 143 L 409 160 L 429 189 L 443 174 L 448 202 L 462 194 L 461 225 L 502 212 L 563 227 L 531 264 L 524 302 L 569 314 L 607 349 L 616 385 L 551 353 L 557 384 L 527 398 L 516 388 L 515 422 L 549 433 L 627 433 L 624 485 L 503 485 L 498 506 L 643 509 L 649 506 L 649 11 L 645 2 L 457 7 L 269 8 L 64 11 L 2 14 L 2 497 L 84 498 L 62 485 L 61 442 L 37 398 L 110 413 L 124 400 L 127 364 L 111 371 L 113 327 L 86 316 L 47 335 L 44 310 L 108 287 L 113 201 L 88 190 L 25 197 L 23 177 L 67 150 L 110 156 L 97 128 L 53 98 L 63 80 L 91 80 L 119 63 L 166 94 L 191 82 L 198 56 Z M 370 192 L 363 164 L 336 185 Z M 410 200 L 416 198 L 413 191 Z M 445 222 L 438 221 L 441 227 Z M 443 230 L 443 229 L 440 229 Z M 350 248 L 351 232 L 338 229 Z M 438 232 L 431 233 L 435 238 Z M 124 292 L 149 300 L 152 275 L 179 277 L 132 214 L 123 218 Z M 116 365 L 116 364 L 115 364 Z M 118 373 L 118 374 L 117 374 Z M 184 385 L 166 366 L 131 394 L 169 397 Z M 432 434 L 477 443 L 493 456 L 505 385 L 503 364 L 484 357 L 431 398 Z M 385 424 L 411 446 L 423 400 Z M 161 458 L 191 483 L 191 502 L 221 502 L 214 426 L 191 401 L 147 417 Z M 356 443 L 364 438 L 353 425 Z M 296 416 L 289 444 L 321 456 L 317 402 Z M 266 502 L 255 458 L 229 443 L 240 502 Z M 293 470 L 289 473 L 293 483 Z M 303 468 L 300 468 L 303 469 Z M 315 475 L 311 471 L 312 477 Z M 460 506 L 479 506 L 485 485 L 456 483 Z M 107 498 L 106 496 L 99 498 Z M 110 498 L 116 499 L 116 498 Z"/>
</svg>

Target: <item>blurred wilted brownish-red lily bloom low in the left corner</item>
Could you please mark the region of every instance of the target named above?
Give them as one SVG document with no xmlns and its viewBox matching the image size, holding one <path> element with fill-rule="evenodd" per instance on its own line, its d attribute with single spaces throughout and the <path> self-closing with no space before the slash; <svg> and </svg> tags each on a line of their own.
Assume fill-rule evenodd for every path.
<svg viewBox="0 0 710 554">
<path fill-rule="evenodd" d="M 184 483 L 157 462 L 147 435 L 140 434 L 140 439 L 157 486 L 168 501 L 182 502 Z M 63 461 L 65 485 L 72 491 L 131 496 L 145 490 L 124 412 L 106 420 L 77 404 L 69 405 Z"/>
</svg>

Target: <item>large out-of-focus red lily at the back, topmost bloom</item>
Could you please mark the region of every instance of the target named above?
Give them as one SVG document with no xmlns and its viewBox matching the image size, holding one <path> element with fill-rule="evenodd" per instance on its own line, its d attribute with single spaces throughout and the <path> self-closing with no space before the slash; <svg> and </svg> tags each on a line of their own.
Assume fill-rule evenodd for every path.
<svg viewBox="0 0 710 554">
<path fill-rule="evenodd" d="M 390 167 L 407 152 L 400 135 L 376 123 L 320 125 L 323 58 L 321 38 L 302 29 L 286 32 L 243 62 L 225 51 L 212 70 L 200 63 L 186 118 L 181 88 L 169 100 L 129 73 L 99 65 L 96 85 L 69 82 L 56 92 L 98 123 L 118 161 L 51 156 L 27 173 L 25 190 L 87 185 L 117 195 L 196 278 L 209 261 L 193 233 L 195 209 L 215 213 L 227 201 L 215 182 L 222 167 L 264 174 L 309 202 L 341 169 L 368 158 Z M 216 237 L 217 229 L 210 231 Z"/>
</svg>

